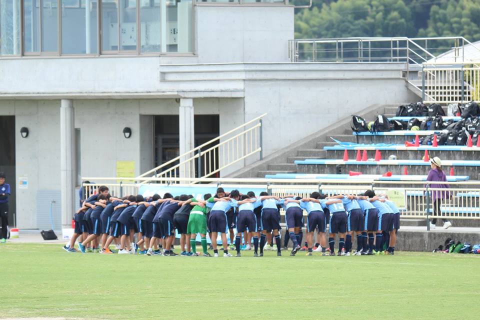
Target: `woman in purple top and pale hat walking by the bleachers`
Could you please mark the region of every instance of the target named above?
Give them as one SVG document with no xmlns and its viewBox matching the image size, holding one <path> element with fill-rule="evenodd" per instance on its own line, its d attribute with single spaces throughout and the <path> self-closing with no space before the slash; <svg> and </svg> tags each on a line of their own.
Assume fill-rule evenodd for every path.
<svg viewBox="0 0 480 320">
<path fill-rule="evenodd" d="M 432 181 L 434 183 L 430 183 L 430 187 L 433 189 L 439 188 L 449 188 L 450 186 L 446 182 L 446 176 L 443 170 L 441 169 L 441 160 L 439 157 L 435 156 L 433 159 L 430 160 L 431 170 L 428 172 L 428 176 L 426 177 L 427 181 Z M 440 182 L 440 183 L 438 183 Z M 450 197 L 450 192 L 445 190 L 434 190 L 431 191 L 430 196 L 433 200 L 433 215 L 441 215 L 440 205 L 441 200 Z M 443 220 L 443 228 L 446 229 L 451 226 L 451 222 L 447 219 L 442 218 Z M 430 229 L 434 229 L 436 224 L 436 218 L 432 219 L 430 222 Z"/>
</svg>

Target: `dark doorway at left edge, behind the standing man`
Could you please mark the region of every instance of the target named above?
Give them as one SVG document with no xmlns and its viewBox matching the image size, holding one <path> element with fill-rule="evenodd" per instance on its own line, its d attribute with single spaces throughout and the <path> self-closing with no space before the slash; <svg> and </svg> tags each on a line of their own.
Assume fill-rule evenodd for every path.
<svg viewBox="0 0 480 320">
<path fill-rule="evenodd" d="M 15 116 L 0 115 L 0 171 L 6 175 L 5 183 L 10 184 L 8 198 L 8 224 L 16 225 L 16 175 L 15 175 Z"/>
</svg>

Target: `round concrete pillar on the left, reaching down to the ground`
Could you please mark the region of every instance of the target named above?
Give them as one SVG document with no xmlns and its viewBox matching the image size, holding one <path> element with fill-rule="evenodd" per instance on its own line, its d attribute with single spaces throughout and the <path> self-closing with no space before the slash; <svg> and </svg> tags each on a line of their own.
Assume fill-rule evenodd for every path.
<svg viewBox="0 0 480 320">
<path fill-rule="evenodd" d="M 73 101 L 62 99 L 60 104 L 60 180 L 61 227 L 71 227 L 75 210 L 75 125 Z"/>
</svg>

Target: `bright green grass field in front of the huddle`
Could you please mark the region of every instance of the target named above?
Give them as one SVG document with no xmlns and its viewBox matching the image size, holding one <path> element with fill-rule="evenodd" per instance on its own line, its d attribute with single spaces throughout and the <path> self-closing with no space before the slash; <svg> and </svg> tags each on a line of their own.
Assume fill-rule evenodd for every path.
<svg viewBox="0 0 480 320">
<path fill-rule="evenodd" d="M 0 245 L 1 317 L 478 319 L 480 257 L 164 257 Z M 476 271 L 475 271 L 476 270 Z"/>
</svg>

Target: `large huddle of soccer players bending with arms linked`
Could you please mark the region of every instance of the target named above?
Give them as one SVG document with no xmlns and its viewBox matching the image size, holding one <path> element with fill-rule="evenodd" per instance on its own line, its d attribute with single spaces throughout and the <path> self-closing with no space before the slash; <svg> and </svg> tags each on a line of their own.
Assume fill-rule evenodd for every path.
<svg viewBox="0 0 480 320">
<path fill-rule="evenodd" d="M 281 255 L 280 209 L 285 212 L 287 229 L 283 247 L 288 240 L 293 244 L 290 255 L 298 251 L 306 251 L 306 255 L 312 252 L 394 254 L 400 213 L 387 196 L 377 195 L 373 190 L 366 190 L 362 195 L 326 196 L 315 191 L 309 197 L 278 197 L 267 192 L 260 192 L 258 196 L 252 191 L 241 194 L 236 189 L 225 192 L 221 187 L 213 196 L 207 193 L 203 199 L 196 199 L 192 195 L 173 196 L 168 192 L 162 197 L 153 194 L 145 198 L 142 195 L 117 198 L 110 196 L 106 186 L 100 186 L 97 194 L 84 200 L 76 211 L 74 233 L 63 249 L 77 251 L 74 244 L 78 239 L 78 250 L 83 253 L 114 253 L 109 248 L 114 242 L 119 254 L 178 255 L 173 252 L 176 229 L 180 235 L 180 255 L 212 256 L 208 252 L 212 249 L 213 256 L 218 256 L 218 233 L 225 257 L 232 256 L 228 252 L 227 235 L 230 243 L 234 243 L 235 256 L 252 247 L 253 256 L 263 256 L 264 249 L 273 249 L 273 241 L 277 255 Z M 303 227 L 306 227 L 306 241 L 301 246 Z M 207 234 L 215 239 L 209 248 Z M 357 246 L 352 252 L 354 235 Z M 201 253 L 197 251 L 197 241 L 201 243 Z"/>
</svg>

